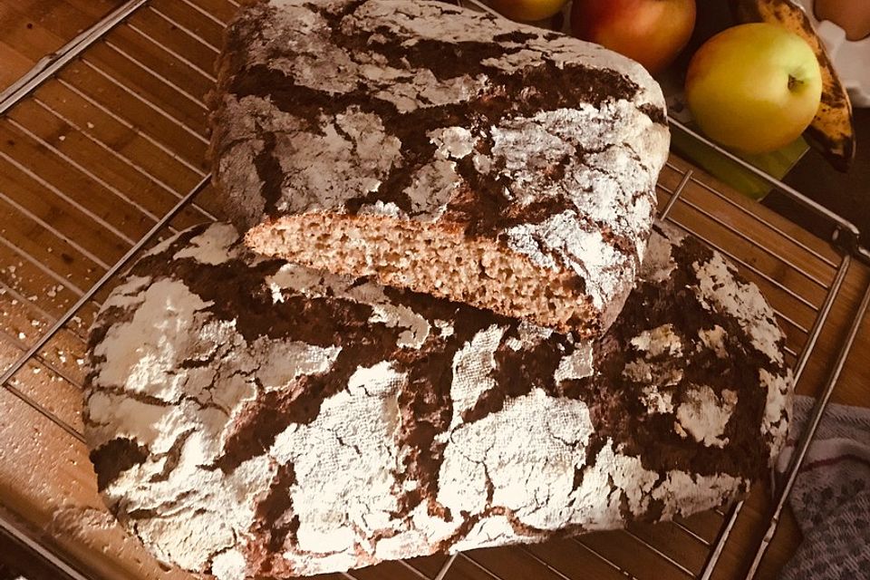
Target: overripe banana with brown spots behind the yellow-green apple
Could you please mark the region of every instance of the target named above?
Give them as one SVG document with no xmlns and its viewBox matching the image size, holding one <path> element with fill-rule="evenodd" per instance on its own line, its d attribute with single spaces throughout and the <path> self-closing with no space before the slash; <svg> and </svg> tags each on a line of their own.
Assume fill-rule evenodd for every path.
<svg viewBox="0 0 870 580">
<path fill-rule="evenodd" d="M 741 22 L 780 24 L 800 35 L 816 52 L 822 69 L 822 102 L 804 136 L 835 169 L 847 171 L 855 159 L 852 103 L 807 14 L 789 0 L 732 0 L 731 5 Z"/>
</svg>

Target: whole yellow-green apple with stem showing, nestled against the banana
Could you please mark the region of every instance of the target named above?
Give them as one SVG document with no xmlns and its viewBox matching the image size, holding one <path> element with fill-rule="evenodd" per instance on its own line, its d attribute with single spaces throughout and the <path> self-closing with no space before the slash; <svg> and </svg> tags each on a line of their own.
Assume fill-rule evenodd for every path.
<svg viewBox="0 0 870 580">
<path fill-rule="evenodd" d="M 796 140 L 821 96 L 813 49 L 777 24 L 740 24 L 716 34 L 686 73 L 686 101 L 701 131 L 746 153 Z"/>
</svg>

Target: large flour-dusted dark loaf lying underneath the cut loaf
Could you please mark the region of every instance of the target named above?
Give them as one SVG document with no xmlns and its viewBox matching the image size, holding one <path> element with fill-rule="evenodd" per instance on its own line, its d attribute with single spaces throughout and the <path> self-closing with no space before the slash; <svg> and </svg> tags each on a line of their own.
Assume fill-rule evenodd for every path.
<svg viewBox="0 0 870 580">
<path fill-rule="evenodd" d="M 163 562 L 314 575 L 738 497 L 784 441 L 782 346 L 758 288 L 671 229 L 589 342 L 199 226 L 103 304 L 85 434 Z"/>
</svg>

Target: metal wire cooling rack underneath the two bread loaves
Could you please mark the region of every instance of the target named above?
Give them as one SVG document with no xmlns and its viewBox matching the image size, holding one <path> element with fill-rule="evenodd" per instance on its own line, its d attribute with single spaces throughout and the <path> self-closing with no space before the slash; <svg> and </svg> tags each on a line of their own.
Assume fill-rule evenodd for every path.
<svg viewBox="0 0 870 580">
<path fill-rule="evenodd" d="M 235 8 L 235 0 L 119 3 L 111 14 L 47 55 L 19 82 L 0 93 L 0 135 L 5 136 L 9 145 L 0 148 L 0 211 L 11 216 L 0 225 L 0 266 L 3 261 L 8 265 L 7 276 L 0 280 L 0 295 L 10 298 L 11 304 L 22 310 L 36 313 L 42 321 L 34 324 L 38 333 L 32 340 L 27 340 L 23 332 L 16 335 L 10 327 L 0 329 L 0 343 L 11 349 L 13 359 L 0 374 L 0 383 L 15 398 L 63 430 L 63 437 L 83 443 L 75 412 L 63 405 L 50 404 L 39 391 L 29 389 L 25 372 L 44 369 L 72 385 L 74 392 L 81 390 L 82 373 L 74 366 L 70 368 L 63 353 L 51 353 L 49 347 L 72 344 L 73 350 L 78 348 L 82 352 L 86 319 L 99 306 L 117 275 L 143 248 L 192 223 L 219 218 L 219 210 L 209 201 L 213 191 L 201 159 L 208 142 L 203 95 L 198 93 L 198 83 L 193 80 L 200 85 L 214 81 L 205 62 L 216 56 L 219 31 Z M 99 118 L 100 126 L 88 121 L 89 115 L 94 121 Z M 850 267 L 856 261 L 870 263 L 870 253 L 858 245 L 858 230 L 845 219 L 734 158 L 678 121 L 672 120 L 672 128 L 689 133 L 697 143 L 756 173 L 771 189 L 777 189 L 829 224 L 828 248 L 820 251 L 807 244 L 806 232 L 796 235 L 788 227 L 765 223 L 748 204 L 710 187 L 708 179 L 701 179 L 678 160 L 669 162 L 662 172 L 659 217 L 705 239 L 735 260 L 766 293 L 781 296 L 775 306 L 780 323 L 787 330 L 789 359 L 800 380 L 807 362 L 817 352 L 819 337 L 840 299 Z M 76 140 L 74 148 L 64 145 L 66 137 Z M 16 153 L 14 141 L 23 141 L 29 149 Z M 24 158 L 30 155 L 33 160 L 19 155 Z M 69 183 L 63 176 L 70 176 Z M 82 183 L 98 190 L 102 201 L 94 201 L 99 196 L 76 191 Z M 135 188 L 140 186 L 147 186 L 153 195 L 139 198 Z M 67 213 L 43 207 L 42 200 L 48 198 L 53 207 L 67 208 Z M 152 198 L 160 201 L 150 203 Z M 117 211 L 107 210 L 112 206 L 117 206 Z M 742 216 L 744 226 L 735 227 L 733 219 L 722 218 L 722 208 Z M 124 214 L 123 218 L 118 218 L 118 214 Z M 761 230 L 772 232 L 775 242 L 761 239 Z M 89 241 L 92 237 L 97 243 Z M 728 239 L 734 240 L 734 244 L 723 241 Z M 48 243 L 56 244 L 57 251 Z M 733 250 L 735 246 L 752 247 L 768 257 L 758 262 L 741 259 L 739 252 Z M 789 258 L 795 248 L 811 256 L 816 266 L 807 269 L 797 266 Z M 62 259 L 57 259 L 58 254 Z M 9 266 L 16 261 L 19 270 L 31 272 L 29 288 L 16 283 L 14 274 L 9 279 Z M 771 268 L 767 267 L 773 263 L 785 265 L 789 275 L 810 281 L 813 291 L 797 292 L 780 281 L 781 276 L 771 274 Z M 63 299 L 44 304 L 46 296 Z M 781 304 L 797 305 L 792 311 Z M 787 477 L 774 486 L 773 508 L 763 522 L 765 533 L 751 552 L 747 578 L 758 573 L 797 468 L 840 378 L 868 304 L 870 286 L 863 288 L 854 322 L 836 348 L 826 380 L 819 385 L 816 409 L 797 445 Z M 71 401 L 75 401 L 74 396 Z M 0 442 L 0 451 L 2 446 Z M 0 507 L 3 504 L 0 498 Z M 398 570 L 400 576 L 420 580 L 452 577 L 512 580 L 516 570 L 523 577 L 554 580 L 574 580 L 586 573 L 635 580 L 661 577 L 708 580 L 719 570 L 720 556 L 744 505 L 741 501 L 709 512 L 702 516 L 702 522 L 678 518 L 656 527 L 635 526 L 607 536 L 580 536 L 565 540 L 556 548 L 552 545 L 496 548 L 444 556 L 425 566 L 414 561 L 401 562 L 392 564 L 393 572 L 384 572 L 382 577 L 398 577 L 395 575 Z M 5 509 L 0 510 L 0 533 L 52 565 L 57 577 L 97 578 L 77 565 L 73 556 L 34 534 L 33 529 Z M 662 535 L 679 537 L 681 542 L 691 544 L 691 557 L 673 553 L 666 542 L 662 543 Z M 638 546 L 634 561 L 614 556 L 608 549 L 614 542 Z M 582 562 L 582 572 L 566 564 L 565 553 Z M 377 570 L 376 566 L 333 576 L 366 580 L 376 578 Z"/>
</svg>

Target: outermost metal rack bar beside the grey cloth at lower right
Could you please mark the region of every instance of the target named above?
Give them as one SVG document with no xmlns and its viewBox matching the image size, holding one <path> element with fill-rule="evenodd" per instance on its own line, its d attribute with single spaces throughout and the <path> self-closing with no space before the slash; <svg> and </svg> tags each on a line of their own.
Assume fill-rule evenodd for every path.
<svg viewBox="0 0 870 580">
<path fill-rule="evenodd" d="M 846 366 L 846 359 L 852 350 L 852 344 L 855 343 L 855 336 L 858 334 L 858 329 L 864 322 L 864 317 L 867 313 L 868 307 L 870 307 L 870 285 L 867 285 L 865 288 L 864 297 L 861 299 L 861 305 L 858 307 L 858 313 L 855 315 L 855 320 L 846 335 L 846 341 L 843 343 L 843 347 L 837 355 L 834 368 L 826 382 L 825 390 L 818 396 L 816 404 L 813 406 L 813 412 L 807 422 L 807 427 L 804 429 L 804 432 L 801 433 L 800 440 L 798 440 L 796 453 L 788 465 L 785 483 L 776 494 L 776 507 L 770 516 L 768 528 L 765 531 L 764 537 L 761 539 L 758 549 L 756 550 L 752 564 L 749 566 L 749 572 L 746 575 L 748 580 L 751 580 L 751 578 L 754 578 L 755 575 L 758 574 L 761 560 L 764 558 L 768 546 L 770 546 L 770 543 L 773 541 L 773 536 L 777 533 L 779 517 L 782 514 L 783 507 L 786 505 L 786 501 L 788 500 L 788 493 L 795 484 L 797 472 L 807 456 L 807 450 L 809 449 L 813 437 L 816 435 L 819 422 L 822 420 L 822 415 L 825 413 L 827 403 L 830 401 L 836 382 L 840 378 L 840 373 L 843 372 L 843 367 Z"/>
</svg>

